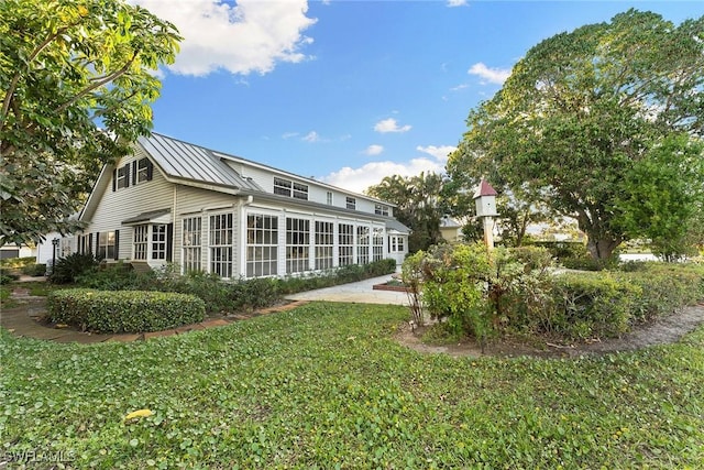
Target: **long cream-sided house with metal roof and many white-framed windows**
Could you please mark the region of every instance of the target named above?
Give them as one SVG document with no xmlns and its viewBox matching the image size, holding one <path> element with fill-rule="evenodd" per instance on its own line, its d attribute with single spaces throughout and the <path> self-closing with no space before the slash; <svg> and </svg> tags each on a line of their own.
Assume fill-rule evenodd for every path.
<svg viewBox="0 0 704 470">
<path fill-rule="evenodd" d="M 67 251 L 138 269 L 285 276 L 408 251 L 394 205 L 166 135 L 102 168 Z"/>
</svg>

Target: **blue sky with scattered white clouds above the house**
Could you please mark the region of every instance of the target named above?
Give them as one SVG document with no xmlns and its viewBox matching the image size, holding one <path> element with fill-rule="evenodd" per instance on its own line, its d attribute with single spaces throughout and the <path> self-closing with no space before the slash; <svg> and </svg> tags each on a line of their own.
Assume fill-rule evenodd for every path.
<svg viewBox="0 0 704 470">
<path fill-rule="evenodd" d="M 361 193 L 442 173 L 471 109 L 540 41 L 704 1 L 132 0 L 184 41 L 154 131 Z"/>
</svg>

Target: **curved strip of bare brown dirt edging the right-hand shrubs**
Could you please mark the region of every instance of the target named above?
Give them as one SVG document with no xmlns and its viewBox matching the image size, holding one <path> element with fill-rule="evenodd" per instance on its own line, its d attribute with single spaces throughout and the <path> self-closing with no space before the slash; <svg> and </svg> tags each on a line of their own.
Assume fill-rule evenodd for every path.
<svg viewBox="0 0 704 470">
<path fill-rule="evenodd" d="M 704 323 L 704 303 L 682 308 L 653 323 L 639 325 L 620 338 L 595 339 L 585 343 L 565 346 L 543 341 L 530 346 L 518 341 L 502 340 L 487 345 L 484 353 L 482 353 L 480 346 L 473 340 L 448 346 L 424 345 L 420 338 L 427 327 L 416 328 L 415 331 L 411 331 L 409 325 L 404 325 L 396 335 L 396 340 L 420 352 L 444 353 L 455 358 L 481 356 L 574 358 L 616 351 L 632 351 L 648 346 L 674 342 L 688 332 L 693 331 L 702 323 Z"/>
</svg>

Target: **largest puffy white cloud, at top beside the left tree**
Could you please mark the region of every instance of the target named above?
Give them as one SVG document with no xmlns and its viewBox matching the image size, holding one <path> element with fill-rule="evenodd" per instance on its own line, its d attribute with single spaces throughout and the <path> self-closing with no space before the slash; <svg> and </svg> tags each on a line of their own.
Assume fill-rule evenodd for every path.
<svg viewBox="0 0 704 470">
<path fill-rule="evenodd" d="M 307 0 L 132 0 L 178 28 L 184 41 L 175 73 L 202 76 L 218 69 L 235 75 L 272 72 L 278 62 L 308 58 L 302 33 L 316 23 L 306 17 Z"/>
</svg>

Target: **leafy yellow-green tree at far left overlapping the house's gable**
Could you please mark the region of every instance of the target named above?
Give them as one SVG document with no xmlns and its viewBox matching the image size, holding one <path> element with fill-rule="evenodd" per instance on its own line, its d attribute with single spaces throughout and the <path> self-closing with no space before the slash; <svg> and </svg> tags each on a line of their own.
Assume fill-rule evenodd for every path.
<svg viewBox="0 0 704 470">
<path fill-rule="evenodd" d="M 0 2 L 0 245 L 78 228 L 101 166 L 148 133 L 180 40 L 122 0 Z"/>
</svg>

